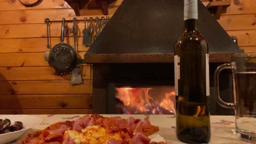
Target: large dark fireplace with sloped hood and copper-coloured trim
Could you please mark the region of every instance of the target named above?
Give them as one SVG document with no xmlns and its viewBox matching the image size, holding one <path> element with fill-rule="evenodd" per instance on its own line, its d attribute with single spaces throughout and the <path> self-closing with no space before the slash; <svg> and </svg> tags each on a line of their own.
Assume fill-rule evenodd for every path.
<svg viewBox="0 0 256 144">
<path fill-rule="evenodd" d="M 175 113 L 173 52 L 184 31 L 183 7 L 181 0 L 123 1 L 84 55 L 93 65 L 93 113 Z M 210 52 L 211 115 L 234 115 L 215 102 L 213 74 L 241 50 L 201 1 L 198 9 Z M 231 71 L 224 70 L 219 83 L 220 95 L 232 101 Z M 126 94 L 130 101 L 122 93 L 132 94 Z"/>
</svg>

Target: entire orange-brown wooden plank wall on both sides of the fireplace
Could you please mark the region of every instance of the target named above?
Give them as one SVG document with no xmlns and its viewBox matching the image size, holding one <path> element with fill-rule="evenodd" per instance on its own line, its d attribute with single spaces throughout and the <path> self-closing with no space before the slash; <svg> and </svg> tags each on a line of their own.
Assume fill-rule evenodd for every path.
<svg viewBox="0 0 256 144">
<path fill-rule="evenodd" d="M 122 0 L 112 4 L 113 14 Z M 206 2 L 204 2 L 206 4 Z M 101 15 L 101 10 L 83 10 L 83 15 Z M 46 25 L 44 19 L 72 19 L 74 11 L 63 0 L 44 0 L 37 7 L 25 8 L 18 0 L 0 0 L 0 114 L 1 113 L 91 113 L 90 67 L 83 65 L 83 85 L 71 86 L 70 76 L 57 76 L 44 61 Z M 218 20 L 238 37 L 245 52 L 256 51 L 256 1 L 232 0 Z M 73 46 L 72 23 L 65 41 Z M 78 51 L 83 57 L 79 25 Z M 51 23 L 51 47 L 60 41 L 61 23 Z"/>
</svg>

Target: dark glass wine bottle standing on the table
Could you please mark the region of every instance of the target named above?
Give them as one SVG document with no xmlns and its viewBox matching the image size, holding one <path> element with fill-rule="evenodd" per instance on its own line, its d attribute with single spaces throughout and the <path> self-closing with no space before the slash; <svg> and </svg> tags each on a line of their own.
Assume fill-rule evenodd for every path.
<svg viewBox="0 0 256 144">
<path fill-rule="evenodd" d="M 175 45 L 174 75 L 176 134 L 185 143 L 211 138 L 208 44 L 197 20 L 197 0 L 184 0 L 185 31 Z"/>
</svg>

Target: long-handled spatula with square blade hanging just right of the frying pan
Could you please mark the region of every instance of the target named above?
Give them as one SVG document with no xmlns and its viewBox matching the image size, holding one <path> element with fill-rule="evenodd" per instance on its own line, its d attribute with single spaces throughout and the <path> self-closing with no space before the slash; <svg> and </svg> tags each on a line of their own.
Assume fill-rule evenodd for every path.
<svg viewBox="0 0 256 144">
<path fill-rule="evenodd" d="M 73 24 L 74 50 L 77 51 L 77 49 L 76 49 L 76 47 L 77 47 L 77 31 L 78 31 L 77 18 L 75 18 L 75 17 L 73 18 L 73 23 L 74 23 Z M 75 67 L 72 70 L 70 83 L 71 83 L 71 85 L 83 84 L 80 67 Z"/>
</svg>

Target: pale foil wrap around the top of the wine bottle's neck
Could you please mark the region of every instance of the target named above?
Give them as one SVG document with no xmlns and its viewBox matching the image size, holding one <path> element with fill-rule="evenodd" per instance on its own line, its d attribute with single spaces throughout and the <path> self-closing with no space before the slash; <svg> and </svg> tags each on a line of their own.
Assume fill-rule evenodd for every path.
<svg viewBox="0 0 256 144">
<path fill-rule="evenodd" d="M 197 0 L 184 0 L 184 21 L 188 19 L 198 20 Z"/>
</svg>

